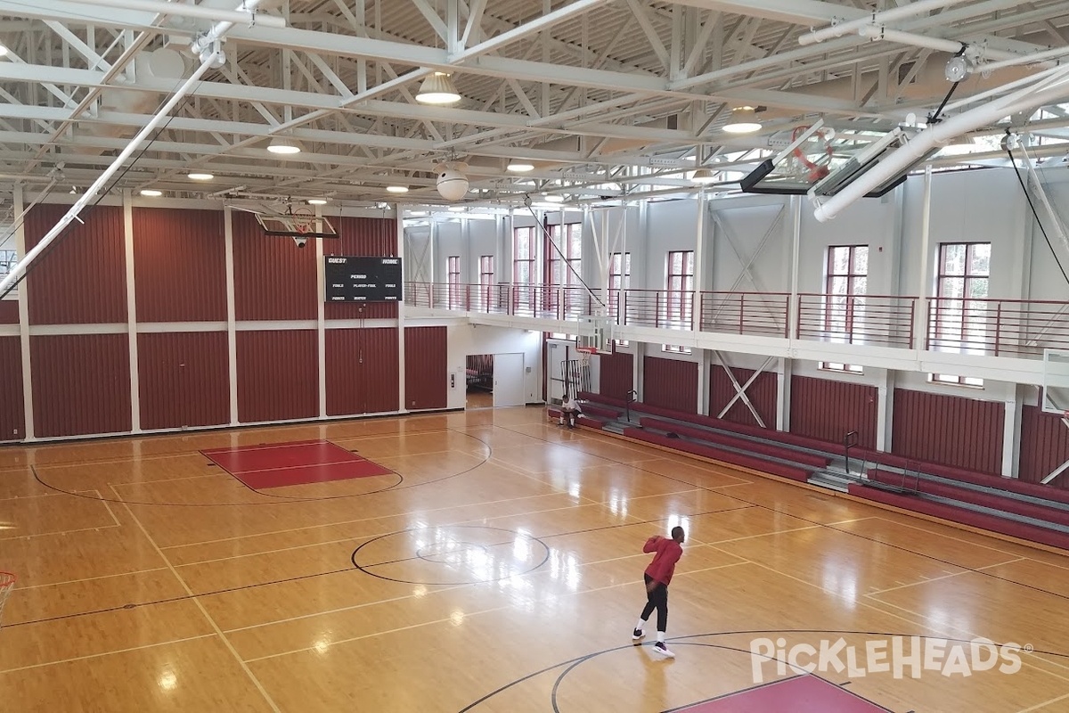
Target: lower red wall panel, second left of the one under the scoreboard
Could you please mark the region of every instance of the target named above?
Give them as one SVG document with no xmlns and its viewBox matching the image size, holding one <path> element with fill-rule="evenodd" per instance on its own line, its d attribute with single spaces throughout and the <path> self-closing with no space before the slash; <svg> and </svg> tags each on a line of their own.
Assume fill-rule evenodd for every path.
<svg viewBox="0 0 1069 713">
<path fill-rule="evenodd" d="M 230 422 L 227 332 L 142 334 L 137 350 L 142 429 Z"/>
</svg>

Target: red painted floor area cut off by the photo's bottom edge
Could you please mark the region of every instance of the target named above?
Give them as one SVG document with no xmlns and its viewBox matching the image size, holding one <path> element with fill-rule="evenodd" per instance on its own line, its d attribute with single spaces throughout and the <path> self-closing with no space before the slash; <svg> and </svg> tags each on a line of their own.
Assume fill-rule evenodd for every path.
<svg viewBox="0 0 1069 713">
<path fill-rule="evenodd" d="M 676 709 L 678 713 L 884 713 L 886 710 L 816 676 L 776 681 Z"/>
</svg>

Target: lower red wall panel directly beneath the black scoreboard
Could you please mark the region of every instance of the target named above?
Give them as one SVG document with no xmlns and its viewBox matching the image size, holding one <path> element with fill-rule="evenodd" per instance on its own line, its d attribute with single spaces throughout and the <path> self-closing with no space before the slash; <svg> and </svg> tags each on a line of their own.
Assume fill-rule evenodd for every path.
<svg viewBox="0 0 1069 713">
<path fill-rule="evenodd" d="M 398 330 L 327 329 L 327 415 L 398 409 Z"/>
</svg>

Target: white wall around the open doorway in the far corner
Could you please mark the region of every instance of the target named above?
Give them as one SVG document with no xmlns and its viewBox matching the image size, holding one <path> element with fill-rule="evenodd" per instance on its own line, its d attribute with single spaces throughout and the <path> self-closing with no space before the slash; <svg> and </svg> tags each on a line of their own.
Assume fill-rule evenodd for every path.
<svg viewBox="0 0 1069 713">
<path fill-rule="evenodd" d="M 467 399 L 467 357 L 475 354 L 523 354 L 524 394 L 528 403 L 542 401 L 542 332 L 486 325 L 451 324 L 448 326 L 449 373 L 453 386 L 448 390 L 448 407 L 464 408 Z"/>
</svg>

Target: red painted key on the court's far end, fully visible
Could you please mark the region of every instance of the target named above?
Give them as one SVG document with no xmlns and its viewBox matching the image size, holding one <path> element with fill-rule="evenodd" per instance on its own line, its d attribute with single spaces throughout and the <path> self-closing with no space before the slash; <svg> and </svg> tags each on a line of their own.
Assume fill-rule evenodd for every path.
<svg viewBox="0 0 1069 713">
<path fill-rule="evenodd" d="M 214 448 L 201 453 L 253 490 L 393 472 L 329 440 Z"/>
</svg>

